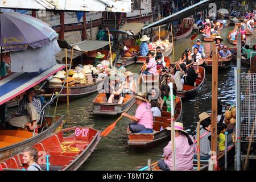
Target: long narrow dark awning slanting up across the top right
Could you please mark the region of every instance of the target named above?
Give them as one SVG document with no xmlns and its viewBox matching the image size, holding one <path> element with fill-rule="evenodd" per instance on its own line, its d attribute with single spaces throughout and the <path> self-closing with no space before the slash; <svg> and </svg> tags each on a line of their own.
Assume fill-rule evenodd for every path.
<svg viewBox="0 0 256 182">
<path fill-rule="evenodd" d="M 151 28 L 151 27 L 156 27 L 156 26 L 161 26 L 163 24 L 175 22 L 176 20 L 180 20 L 183 18 L 187 18 L 188 16 L 194 15 L 195 12 L 205 10 L 208 8 L 212 8 L 211 6 L 209 7 L 210 3 L 218 3 L 218 2 L 223 2 L 219 0 L 204 0 L 196 3 L 195 5 L 189 6 L 181 11 L 178 11 L 177 13 L 174 13 L 170 16 L 167 16 L 166 18 L 163 18 L 161 20 L 158 20 L 154 23 L 149 24 L 148 26 L 143 27 L 142 29 L 145 30 L 146 28 Z"/>
</svg>

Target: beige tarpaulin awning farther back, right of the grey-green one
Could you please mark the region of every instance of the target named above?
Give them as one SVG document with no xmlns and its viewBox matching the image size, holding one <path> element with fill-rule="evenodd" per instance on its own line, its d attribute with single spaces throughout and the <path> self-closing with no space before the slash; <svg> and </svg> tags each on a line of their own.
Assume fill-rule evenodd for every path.
<svg viewBox="0 0 256 182">
<path fill-rule="evenodd" d="M 127 35 L 136 35 L 138 34 L 142 28 L 144 27 L 144 23 L 125 23 L 119 30 L 109 30 L 110 34 L 127 34 Z M 108 30 L 103 30 L 108 32 Z"/>
</svg>

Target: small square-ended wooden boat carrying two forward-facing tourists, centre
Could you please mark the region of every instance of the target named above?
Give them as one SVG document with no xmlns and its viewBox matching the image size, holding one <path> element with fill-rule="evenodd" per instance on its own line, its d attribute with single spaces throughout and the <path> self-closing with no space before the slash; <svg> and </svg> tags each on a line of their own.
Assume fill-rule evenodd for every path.
<svg viewBox="0 0 256 182">
<path fill-rule="evenodd" d="M 135 103 L 135 97 L 125 94 L 122 104 L 108 103 L 105 93 L 99 93 L 93 100 L 93 114 L 117 115 L 126 111 Z"/>
</svg>

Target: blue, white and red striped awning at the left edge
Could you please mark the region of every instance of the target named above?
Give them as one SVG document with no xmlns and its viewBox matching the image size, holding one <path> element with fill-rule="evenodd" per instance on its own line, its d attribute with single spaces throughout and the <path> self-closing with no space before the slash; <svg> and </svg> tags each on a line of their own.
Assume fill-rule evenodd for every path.
<svg viewBox="0 0 256 182">
<path fill-rule="evenodd" d="M 65 68 L 64 64 L 56 64 L 42 72 L 11 73 L 0 80 L 0 105 L 18 96 L 20 93 L 46 80 L 57 71 Z"/>
</svg>

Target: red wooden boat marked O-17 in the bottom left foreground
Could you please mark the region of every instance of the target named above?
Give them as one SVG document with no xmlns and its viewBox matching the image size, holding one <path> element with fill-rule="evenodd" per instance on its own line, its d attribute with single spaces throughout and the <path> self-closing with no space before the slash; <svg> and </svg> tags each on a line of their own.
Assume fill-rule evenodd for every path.
<svg viewBox="0 0 256 182">
<path fill-rule="evenodd" d="M 100 131 L 87 127 L 72 127 L 30 146 L 40 151 L 38 164 L 42 170 L 46 170 L 46 162 L 42 159 L 49 155 L 49 171 L 76 171 L 92 154 L 100 139 Z M 23 163 L 20 153 L 1 161 L 0 165 L 9 170 L 28 167 Z"/>
</svg>

